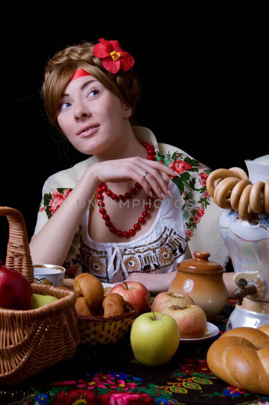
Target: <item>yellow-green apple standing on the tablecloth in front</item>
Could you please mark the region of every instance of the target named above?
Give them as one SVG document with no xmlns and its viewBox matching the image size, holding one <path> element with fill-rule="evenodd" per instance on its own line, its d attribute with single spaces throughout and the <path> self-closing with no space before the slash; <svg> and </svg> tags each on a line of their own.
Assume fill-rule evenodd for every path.
<svg viewBox="0 0 269 405">
<path fill-rule="evenodd" d="M 174 356 L 180 341 L 176 321 L 165 313 L 146 312 L 138 316 L 131 328 L 133 354 L 145 366 L 166 364 Z"/>
</svg>

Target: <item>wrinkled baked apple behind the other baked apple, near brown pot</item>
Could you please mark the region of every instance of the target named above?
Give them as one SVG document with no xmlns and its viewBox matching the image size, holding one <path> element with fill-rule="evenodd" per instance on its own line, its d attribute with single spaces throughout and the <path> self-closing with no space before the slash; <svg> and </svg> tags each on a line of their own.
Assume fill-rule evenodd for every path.
<svg viewBox="0 0 269 405">
<path fill-rule="evenodd" d="M 181 292 L 165 291 L 156 295 L 151 307 L 153 311 L 161 312 L 172 305 L 194 305 L 194 301 L 189 295 L 182 294 Z"/>
</svg>

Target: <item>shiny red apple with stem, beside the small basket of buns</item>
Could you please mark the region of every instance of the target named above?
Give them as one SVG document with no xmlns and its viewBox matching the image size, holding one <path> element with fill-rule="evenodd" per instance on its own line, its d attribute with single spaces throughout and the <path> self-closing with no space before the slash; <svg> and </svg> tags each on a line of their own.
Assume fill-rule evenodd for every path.
<svg viewBox="0 0 269 405">
<path fill-rule="evenodd" d="M 125 301 L 134 307 L 137 307 L 139 314 L 147 311 L 147 299 L 149 301 L 150 293 L 143 284 L 137 283 L 136 281 L 123 281 L 123 283 L 112 287 L 109 294 L 112 294 L 113 292 L 122 295 Z"/>
</svg>

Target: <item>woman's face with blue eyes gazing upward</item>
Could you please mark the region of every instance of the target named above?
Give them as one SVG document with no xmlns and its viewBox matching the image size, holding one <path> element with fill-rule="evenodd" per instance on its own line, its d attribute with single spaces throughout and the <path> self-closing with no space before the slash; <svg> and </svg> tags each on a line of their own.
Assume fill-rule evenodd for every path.
<svg viewBox="0 0 269 405">
<path fill-rule="evenodd" d="M 93 76 L 71 80 L 59 104 L 58 123 L 80 152 L 102 154 L 124 136 L 131 108 Z"/>
</svg>

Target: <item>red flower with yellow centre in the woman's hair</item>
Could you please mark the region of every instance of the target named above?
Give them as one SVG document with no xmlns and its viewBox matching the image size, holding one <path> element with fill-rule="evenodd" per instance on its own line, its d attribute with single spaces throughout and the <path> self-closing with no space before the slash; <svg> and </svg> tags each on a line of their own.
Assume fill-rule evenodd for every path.
<svg viewBox="0 0 269 405">
<path fill-rule="evenodd" d="M 96 58 L 102 58 L 102 65 L 108 72 L 116 73 L 119 68 L 129 70 L 134 60 L 130 53 L 124 52 L 118 41 L 106 41 L 104 38 L 99 39 L 100 44 L 93 48 L 93 55 Z"/>
</svg>

